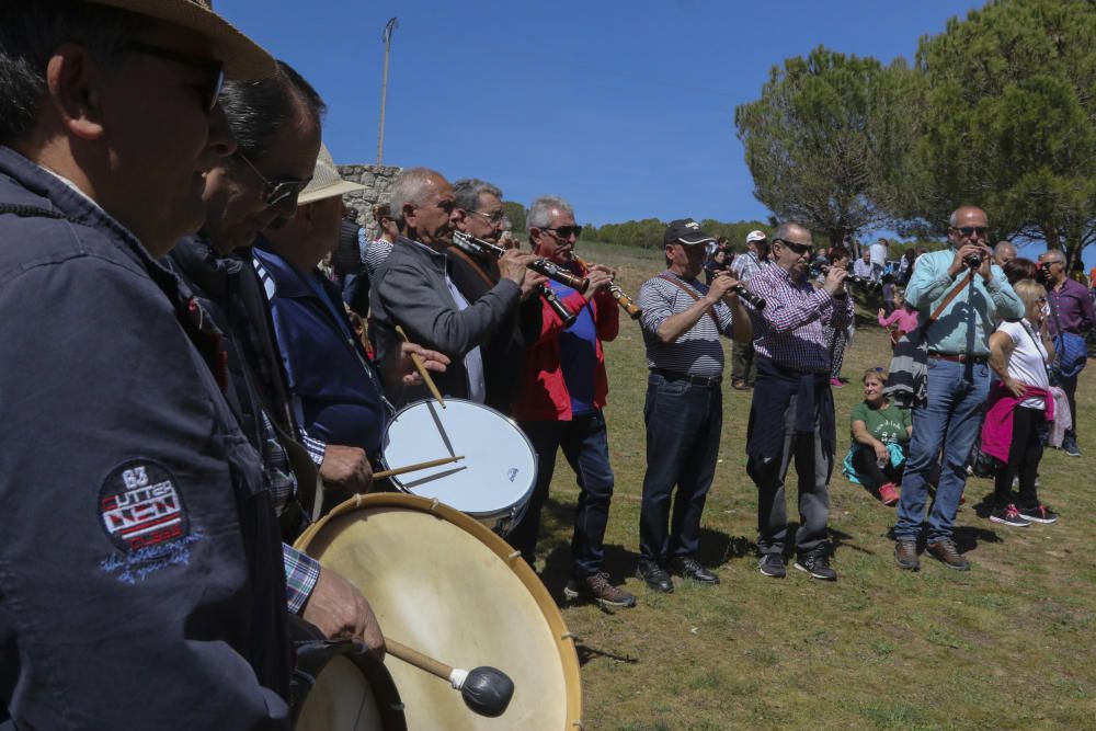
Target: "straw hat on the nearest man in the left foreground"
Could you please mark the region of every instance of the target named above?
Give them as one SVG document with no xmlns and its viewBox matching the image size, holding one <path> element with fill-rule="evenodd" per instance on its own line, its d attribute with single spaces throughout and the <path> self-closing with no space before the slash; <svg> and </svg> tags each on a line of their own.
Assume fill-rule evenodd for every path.
<svg viewBox="0 0 1096 731">
<path fill-rule="evenodd" d="M 274 58 L 213 11 L 212 0 L 90 0 L 194 31 L 209 38 L 229 79 L 274 76 Z"/>
</svg>

